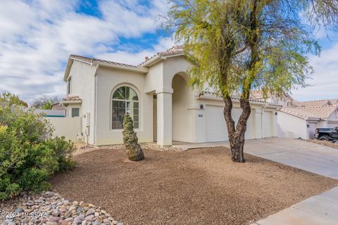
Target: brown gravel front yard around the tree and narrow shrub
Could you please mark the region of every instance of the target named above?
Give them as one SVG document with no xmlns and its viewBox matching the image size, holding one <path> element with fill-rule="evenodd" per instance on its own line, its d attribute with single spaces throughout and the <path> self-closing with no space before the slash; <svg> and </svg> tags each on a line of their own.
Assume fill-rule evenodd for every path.
<svg viewBox="0 0 338 225">
<path fill-rule="evenodd" d="M 338 181 L 224 147 L 182 152 L 123 149 L 77 155 L 77 168 L 52 179 L 69 200 L 100 205 L 123 224 L 250 224 L 338 185 Z"/>
</svg>

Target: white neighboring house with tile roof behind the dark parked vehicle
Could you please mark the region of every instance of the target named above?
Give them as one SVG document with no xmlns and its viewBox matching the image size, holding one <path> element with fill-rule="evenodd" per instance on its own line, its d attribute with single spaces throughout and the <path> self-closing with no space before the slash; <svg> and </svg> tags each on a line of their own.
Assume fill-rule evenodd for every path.
<svg viewBox="0 0 338 225">
<path fill-rule="evenodd" d="M 313 139 L 315 129 L 338 126 L 337 99 L 320 101 L 294 101 L 291 107 L 278 112 L 279 136 Z"/>
</svg>

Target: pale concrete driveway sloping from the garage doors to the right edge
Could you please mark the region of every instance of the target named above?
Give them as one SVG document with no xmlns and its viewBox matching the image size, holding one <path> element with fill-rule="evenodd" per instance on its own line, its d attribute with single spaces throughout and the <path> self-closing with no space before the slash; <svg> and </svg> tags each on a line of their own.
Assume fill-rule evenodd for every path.
<svg viewBox="0 0 338 225">
<path fill-rule="evenodd" d="M 296 139 L 246 141 L 244 152 L 338 179 L 338 149 Z"/>
</svg>

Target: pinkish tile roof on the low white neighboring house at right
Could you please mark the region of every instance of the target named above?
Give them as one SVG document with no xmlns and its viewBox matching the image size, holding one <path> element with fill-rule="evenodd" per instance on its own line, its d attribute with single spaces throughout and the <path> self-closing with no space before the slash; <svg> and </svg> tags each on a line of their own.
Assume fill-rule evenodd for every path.
<svg viewBox="0 0 338 225">
<path fill-rule="evenodd" d="M 303 119 L 318 118 L 327 119 L 330 115 L 337 110 L 338 105 L 324 105 L 324 106 L 312 106 L 312 107 L 298 107 L 298 108 L 281 108 L 280 111 L 288 113 L 296 117 Z"/>
</svg>

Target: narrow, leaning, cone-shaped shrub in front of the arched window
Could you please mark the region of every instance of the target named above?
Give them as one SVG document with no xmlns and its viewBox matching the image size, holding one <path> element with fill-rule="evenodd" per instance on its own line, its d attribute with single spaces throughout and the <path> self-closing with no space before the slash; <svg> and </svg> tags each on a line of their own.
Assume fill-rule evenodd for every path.
<svg viewBox="0 0 338 225">
<path fill-rule="evenodd" d="M 142 148 L 137 141 L 132 118 L 130 115 L 125 115 L 123 118 L 123 143 L 125 143 L 125 148 L 127 148 L 127 157 L 132 161 L 144 160 Z"/>
</svg>

